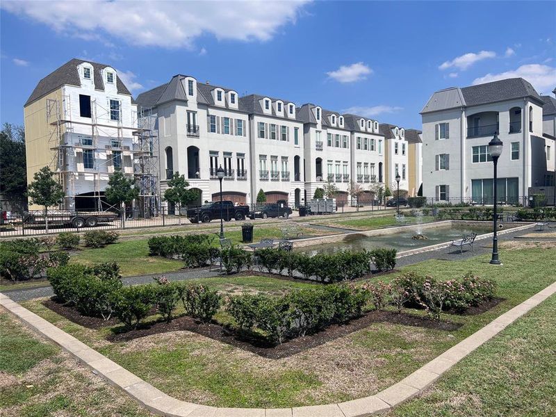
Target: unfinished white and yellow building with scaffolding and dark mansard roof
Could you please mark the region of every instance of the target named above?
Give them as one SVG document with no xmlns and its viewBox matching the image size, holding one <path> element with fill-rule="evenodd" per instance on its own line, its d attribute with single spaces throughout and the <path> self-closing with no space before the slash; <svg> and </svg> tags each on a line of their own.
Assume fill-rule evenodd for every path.
<svg viewBox="0 0 556 417">
<path fill-rule="evenodd" d="M 134 213 L 158 213 L 156 117 L 138 109 L 112 67 L 70 60 L 38 83 L 24 115 L 28 182 L 49 166 L 65 190 L 60 208 L 111 208 L 104 190 L 109 176 L 122 170 L 140 189 Z"/>
</svg>

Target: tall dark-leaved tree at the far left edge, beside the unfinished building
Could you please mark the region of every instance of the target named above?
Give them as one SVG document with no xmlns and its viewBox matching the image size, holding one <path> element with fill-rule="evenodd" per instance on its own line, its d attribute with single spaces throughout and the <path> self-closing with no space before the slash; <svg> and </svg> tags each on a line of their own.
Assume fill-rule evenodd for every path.
<svg viewBox="0 0 556 417">
<path fill-rule="evenodd" d="M 25 130 L 5 123 L 0 132 L 0 193 L 13 206 L 23 209 L 27 192 Z"/>
</svg>

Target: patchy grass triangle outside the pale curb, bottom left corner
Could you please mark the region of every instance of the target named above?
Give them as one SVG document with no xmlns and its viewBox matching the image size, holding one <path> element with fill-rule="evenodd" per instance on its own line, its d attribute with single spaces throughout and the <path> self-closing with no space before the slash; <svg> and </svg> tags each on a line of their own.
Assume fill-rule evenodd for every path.
<svg viewBox="0 0 556 417">
<path fill-rule="evenodd" d="M 3 417 L 152 416 L 0 310 Z"/>
</svg>

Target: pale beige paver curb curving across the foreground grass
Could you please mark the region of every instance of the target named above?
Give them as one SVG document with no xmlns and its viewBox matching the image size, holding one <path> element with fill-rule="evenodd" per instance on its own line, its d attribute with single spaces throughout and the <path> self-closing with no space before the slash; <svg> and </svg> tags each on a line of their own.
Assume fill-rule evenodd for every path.
<svg viewBox="0 0 556 417">
<path fill-rule="evenodd" d="M 495 267 L 496 268 L 496 267 Z M 47 320 L 28 311 L 9 297 L 0 293 L 0 305 L 38 334 L 60 345 L 78 361 L 88 366 L 110 384 L 120 387 L 150 411 L 163 416 L 175 417 L 363 417 L 389 410 L 396 405 L 419 395 L 455 363 L 473 352 L 477 347 L 496 336 L 507 325 L 530 311 L 550 295 L 556 293 L 556 282 L 528 300 L 502 314 L 468 338 L 457 343 L 436 359 L 416 370 L 397 384 L 366 398 L 359 398 L 339 404 L 294 407 L 289 409 L 233 409 L 208 407 L 184 402 L 166 395 L 143 381 L 122 366 L 104 357 L 85 343 L 63 332 Z"/>
</svg>

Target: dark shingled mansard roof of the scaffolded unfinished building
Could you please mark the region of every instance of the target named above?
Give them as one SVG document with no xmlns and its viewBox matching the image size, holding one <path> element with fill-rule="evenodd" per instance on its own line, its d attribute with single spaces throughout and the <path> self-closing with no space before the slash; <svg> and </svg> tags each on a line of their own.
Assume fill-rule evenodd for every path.
<svg viewBox="0 0 556 417">
<path fill-rule="evenodd" d="M 31 95 L 27 99 L 24 106 L 31 104 L 33 101 L 40 99 L 40 97 L 47 95 L 49 92 L 57 90 L 62 85 L 75 85 L 76 87 L 81 86 L 81 80 L 79 79 L 79 73 L 77 71 L 77 65 L 82 63 L 90 63 L 93 67 L 93 80 L 95 81 L 95 90 L 104 91 L 104 82 L 102 81 L 101 70 L 106 67 L 111 67 L 111 65 L 93 63 L 92 61 L 82 60 L 82 59 L 72 59 L 67 61 L 64 65 L 54 70 L 50 74 L 40 80 L 35 90 L 31 92 Z M 122 82 L 119 76 L 116 75 L 116 85 L 117 92 L 119 94 L 125 94 L 131 96 L 131 92 L 127 89 L 126 85 Z M 131 97 L 133 101 L 133 97 Z"/>
</svg>

